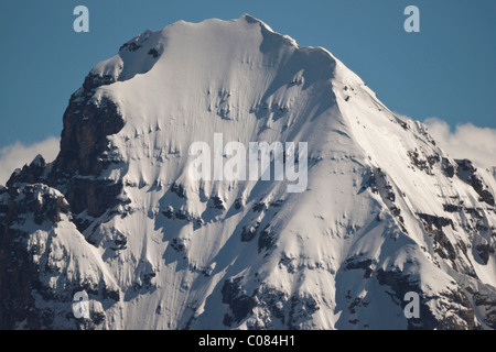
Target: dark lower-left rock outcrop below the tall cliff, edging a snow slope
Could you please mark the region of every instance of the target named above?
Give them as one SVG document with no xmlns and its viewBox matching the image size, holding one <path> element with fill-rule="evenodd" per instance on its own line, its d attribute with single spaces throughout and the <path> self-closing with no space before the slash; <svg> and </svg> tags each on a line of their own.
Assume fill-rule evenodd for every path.
<svg viewBox="0 0 496 352">
<path fill-rule="evenodd" d="M 55 315 L 61 314 L 56 304 L 65 304 L 71 295 L 82 289 L 104 299 L 119 300 L 119 292 L 104 282 L 79 285 L 77 280 L 69 280 L 60 267 L 51 264 L 50 243 L 56 233 L 50 230 L 62 220 L 63 213 L 71 216 L 68 204 L 62 194 L 42 184 L 25 185 L 14 190 L 12 195 L 15 196 L 9 200 L 6 217 L 0 219 L 0 329 L 13 329 L 21 321 L 24 323 L 23 328 L 28 329 L 55 328 Z M 41 252 L 37 244 L 29 245 L 32 233 L 13 227 L 29 219 L 47 232 L 48 250 Z M 35 262 L 34 255 L 42 255 L 43 258 Z M 53 292 L 46 282 L 41 280 L 46 275 L 58 277 L 57 283 L 66 289 L 62 293 Z M 37 308 L 34 295 L 55 306 Z"/>
</svg>

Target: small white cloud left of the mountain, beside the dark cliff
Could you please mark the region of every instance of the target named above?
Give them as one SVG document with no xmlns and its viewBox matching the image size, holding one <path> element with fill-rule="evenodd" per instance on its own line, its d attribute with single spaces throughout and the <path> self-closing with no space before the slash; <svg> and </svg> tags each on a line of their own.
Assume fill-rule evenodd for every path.
<svg viewBox="0 0 496 352">
<path fill-rule="evenodd" d="M 60 139 L 51 136 L 40 143 L 24 145 L 21 142 L 0 150 L 0 185 L 6 185 L 15 168 L 30 164 L 37 154 L 46 163 L 55 160 L 60 150 Z"/>
</svg>

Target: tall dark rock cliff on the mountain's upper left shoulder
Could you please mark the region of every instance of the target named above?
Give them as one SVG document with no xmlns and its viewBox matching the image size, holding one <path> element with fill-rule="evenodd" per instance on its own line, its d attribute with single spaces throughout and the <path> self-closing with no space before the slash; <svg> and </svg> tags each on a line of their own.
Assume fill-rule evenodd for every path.
<svg viewBox="0 0 496 352">
<path fill-rule="evenodd" d="M 99 176 L 111 163 L 105 156 L 109 148 L 107 136 L 119 132 L 123 120 L 111 100 L 90 100 L 95 88 L 112 81 L 111 77 L 89 74 L 82 89 L 71 97 L 63 119 L 61 152 L 46 176 L 46 183 L 63 191 L 76 216 L 87 210 L 97 218 L 119 204 L 121 183 Z M 19 177 L 35 183 L 43 180 L 41 175 L 40 167 L 30 166 Z M 82 231 L 90 226 L 87 219 L 76 218 L 75 222 Z"/>
</svg>

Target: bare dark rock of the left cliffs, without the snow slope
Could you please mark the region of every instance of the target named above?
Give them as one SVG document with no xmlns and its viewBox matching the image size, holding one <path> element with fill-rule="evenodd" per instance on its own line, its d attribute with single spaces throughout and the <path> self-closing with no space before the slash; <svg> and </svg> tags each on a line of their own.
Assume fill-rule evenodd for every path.
<svg viewBox="0 0 496 352">
<path fill-rule="evenodd" d="M 64 113 L 61 152 L 55 162 L 48 168 L 43 157 L 37 156 L 29 166 L 12 175 L 8 183 L 11 199 L 7 209 L 0 209 L 6 213 L 0 220 L 0 328 L 12 329 L 14 323 L 23 320 L 29 329 L 53 328 L 55 316 L 61 314 L 55 308 L 56 304 L 71 301 L 71 295 L 82 289 L 100 299 L 117 301 L 120 298 L 119 290 L 103 280 L 91 284 L 80 284 L 78 278 L 69 280 L 66 273 L 50 264 L 48 257 L 39 262 L 46 263 L 44 265 L 34 264 L 32 256 L 37 255 L 39 249 L 32 245 L 29 250 L 26 243 L 30 234 L 11 229 L 12 223 L 32 218 L 37 227 L 48 231 L 66 213 L 74 215 L 73 222 L 83 231 L 90 226 L 90 220 L 78 218 L 78 215 L 87 211 L 87 216 L 97 218 L 119 204 L 117 196 L 122 185 L 103 179 L 100 175 L 114 163 L 106 157 L 109 148 L 107 138 L 122 129 L 123 120 L 112 101 L 91 100 L 97 87 L 114 81 L 111 76 L 89 74 L 82 89 L 71 97 Z M 2 206 L 6 207 L 3 202 Z M 48 233 L 47 241 L 51 241 L 50 237 L 56 234 Z M 125 237 L 117 237 L 112 249 L 125 249 L 126 243 Z M 51 254 L 45 252 L 43 255 Z M 40 277 L 43 275 L 60 277 L 57 284 L 67 288 L 61 294 L 63 297 L 52 292 L 45 282 L 42 283 Z M 148 279 L 151 279 L 150 275 L 143 277 L 145 283 Z M 34 294 L 54 302 L 55 307 L 36 308 Z M 67 306 L 65 309 L 69 312 L 71 308 Z M 94 328 L 103 319 L 105 312 L 97 311 L 93 321 L 72 321 L 75 328 Z"/>
</svg>

